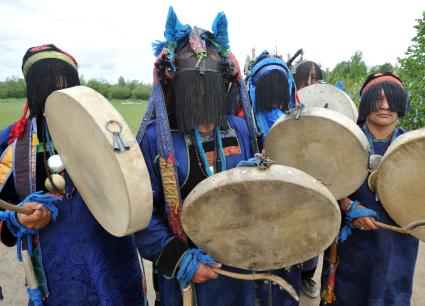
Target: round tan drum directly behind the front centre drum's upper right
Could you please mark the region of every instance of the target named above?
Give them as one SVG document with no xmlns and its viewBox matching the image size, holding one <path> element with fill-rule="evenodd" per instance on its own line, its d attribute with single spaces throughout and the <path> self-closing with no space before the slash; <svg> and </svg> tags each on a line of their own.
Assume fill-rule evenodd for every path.
<svg viewBox="0 0 425 306">
<path fill-rule="evenodd" d="M 272 160 L 307 172 L 336 199 L 356 191 L 368 174 L 366 136 L 352 120 L 329 109 L 304 109 L 298 119 L 282 116 L 264 147 Z"/>
</svg>

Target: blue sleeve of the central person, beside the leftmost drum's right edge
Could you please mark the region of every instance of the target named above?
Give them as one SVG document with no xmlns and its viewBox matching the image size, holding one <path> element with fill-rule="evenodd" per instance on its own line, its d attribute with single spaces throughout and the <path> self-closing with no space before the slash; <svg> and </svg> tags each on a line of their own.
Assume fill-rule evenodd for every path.
<svg viewBox="0 0 425 306">
<path fill-rule="evenodd" d="M 152 219 L 147 228 L 135 233 L 135 241 L 140 255 L 148 260 L 155 261 L 169 240 L 174 236 L 168 227 L 168 221 L 164 215 L 164 197 L 157 158 L 157 146 L 155 124 L 151 124 L 146 130 L 145 137 L 139 144 L 149 171 L 152 185 L 154 206 Z"/>
</svg>

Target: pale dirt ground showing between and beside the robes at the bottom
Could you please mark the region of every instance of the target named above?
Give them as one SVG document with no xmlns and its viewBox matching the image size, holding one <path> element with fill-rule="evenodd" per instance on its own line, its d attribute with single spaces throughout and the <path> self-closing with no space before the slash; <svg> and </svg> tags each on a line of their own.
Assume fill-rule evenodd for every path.
<svg viewBox="0 0 425 306">
<path fill-rule="evenodd" d="M 27 297 L 24 289 L 23 268 L 16 260 L 14 248 L 7 248 L 0 245 L 0 286 L 3 288 L 4 300 L 0 305 L 26 305 Z M 320 267 L 319 267 L 320 268 Z M 146 275 L 148 277 L 148 298 L 150 305 L 153 305 L 153 290 L 151 286 L 151 265 L 145 262 Z M 315 278 L 318 281 L 320 270 L 316 272 Z M 420 244 L 419 256 L 416 263 L 415 278 L 413 283 L 412 306 L 425 305 L 425 245 Z M 311 299 L 304 295 L 301 296 L 301 306 L 317 306 L 319 299 Z"/>
</svg>

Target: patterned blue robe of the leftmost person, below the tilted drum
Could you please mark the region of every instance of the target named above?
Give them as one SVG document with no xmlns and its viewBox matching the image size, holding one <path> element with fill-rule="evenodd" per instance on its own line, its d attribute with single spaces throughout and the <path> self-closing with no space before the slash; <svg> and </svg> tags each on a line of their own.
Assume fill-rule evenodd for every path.
<svg viewBox="0 0 425 306">
<path fill-rule="evenodd" d="M 65 179 L 70 192 L 72 182 L 67 175 Z M 44 305 L 147 305 L 134 237 L 118 238 L 106 232 L 78 191 L 52 205 L 59 212 L 56 222 L 38 233 L 49 292 Z"/>
</svg>

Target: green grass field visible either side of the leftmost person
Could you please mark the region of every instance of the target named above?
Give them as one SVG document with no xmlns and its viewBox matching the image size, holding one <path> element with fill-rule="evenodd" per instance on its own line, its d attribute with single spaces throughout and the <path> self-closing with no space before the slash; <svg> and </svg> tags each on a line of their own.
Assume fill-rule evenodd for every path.
<svg viewBox="0 0 425 306">
<path fill-rule="evenodd" d="M 136 133 L 145 113 L 147 101 L 111 100 L 110 102 L 121 113 L 131 130 Z M 0 99 L 0 129 L 19 119 L 24 111 L 24 105 L 24 99 Z"/>
</svg>

